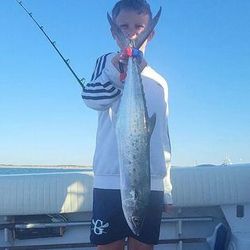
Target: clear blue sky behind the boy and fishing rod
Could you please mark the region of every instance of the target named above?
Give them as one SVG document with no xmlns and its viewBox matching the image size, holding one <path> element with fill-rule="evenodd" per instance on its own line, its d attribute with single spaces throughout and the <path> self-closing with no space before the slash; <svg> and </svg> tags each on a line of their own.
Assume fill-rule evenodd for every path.
<svg viewBox="0 0 250 250">
<path fill-rule="evenodd" d="M 113 0 L 23 0 L 79 77 L 116 51 Z M 173 165 L 250 162 L 250 1 L 151 0 L 148 63 L 169 83 Z M 91 165 L 97 113 L 15 0 L 0 5 L 0 163 Z"/>
</svg>

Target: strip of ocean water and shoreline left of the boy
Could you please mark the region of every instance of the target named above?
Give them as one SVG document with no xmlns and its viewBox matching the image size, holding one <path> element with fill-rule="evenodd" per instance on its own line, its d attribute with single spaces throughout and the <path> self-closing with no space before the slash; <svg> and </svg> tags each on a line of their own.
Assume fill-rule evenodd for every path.
<svg viewBox="0 0 250 250">
<path fill-rule="evenodd" d="M 8 174 L 32 174 L 32 173 L 55 173 L 55 172 L 79 172 L 91 171 L 91 167 L 85 166 L 24 166 L 24 165 L 0 165 L 0 175 Z"/>
</svg>

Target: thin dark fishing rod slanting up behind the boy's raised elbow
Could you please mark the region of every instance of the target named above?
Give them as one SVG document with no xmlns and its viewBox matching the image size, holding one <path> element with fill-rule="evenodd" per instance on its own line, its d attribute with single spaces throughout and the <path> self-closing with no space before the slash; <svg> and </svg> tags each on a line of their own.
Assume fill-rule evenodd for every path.
<svg viewBox="0 0 250 250">
<path fill-rule="evenodd" d="M 85 82 L 85 78 L 80 79 L 76 73 L 74 72 L 74 70 L 72 69 L 72 67 L 69 64 L 69 59 L 65 59 L 65 57 L 62 55 L 62 53 L 59 51 L 59 49 L 56 47 L 56 42 L 52 41 L 50 39 L 50 37 L 47 35 L 47 33 L 44 31 L 43 26 L 41 26 L 36 19 L 33 17 L 32 13 L 29 12 L 22 4 L 22 1 L 18 1 L 16 0 L 16 2 L 23 8 L 23 10 L 30 16 L 30 18 L 33 20 L 33 22 L 37 25 L 37 27 L 42 31 L 42 33 L 45 35 L 45 37 L 49 40 L 50 44 L 53 46 L 53 48 L 56 50 L 56 52 L 59 54 L 59 56 L 62 58 L 62 60 L 64 61 L 64 63 L 67 65 L 68 69 L 71 71 L 71 73 L 74 75 L 74 77 L 76 78 L 77 82 L 81 85 L 81 87 L 83 88 L 83 84 Z"/>
</svg>

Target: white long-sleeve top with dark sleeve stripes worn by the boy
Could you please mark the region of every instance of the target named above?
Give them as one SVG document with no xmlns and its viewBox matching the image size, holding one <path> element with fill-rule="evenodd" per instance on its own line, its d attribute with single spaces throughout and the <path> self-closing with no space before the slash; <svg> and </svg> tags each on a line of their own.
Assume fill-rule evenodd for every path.
<svg viewBox="0 0 250 250">
<path fill-rule="evenodd" d="M 115 53 L 99 57 L 91 81 L 85 84 L 82 98 L 98 111 L 98 128 L 94 155 L 94 187 L 119 189 L 119 161 L 115 135 L 115 117 L 123 91 L 119 72 L 111 60 Z M 151 67 L 141 72 L 149 117 L 156 113 L 150 140 L 151 190 L 164 191 L 165 203 L 172 203 L 170 181 L 171 147 L 168 133 L 168 86 Z"/>
</svg>

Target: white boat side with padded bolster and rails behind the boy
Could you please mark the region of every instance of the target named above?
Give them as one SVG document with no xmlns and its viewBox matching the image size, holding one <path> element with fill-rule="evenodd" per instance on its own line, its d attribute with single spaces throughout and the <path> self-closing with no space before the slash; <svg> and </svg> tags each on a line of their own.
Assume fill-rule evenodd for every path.
<svg viewBox="0 0 250 250">
<path fill-rule="evenodd" d="M 250 249 L 250 164 L 176 167 L 171 178 L 175 207 L 155 249 L 215 249 L 221 225 L 232 250 Z M 2 169 L 0 250 L 93 249 L 92 185 L 90 169 Z"/>
</svg>

